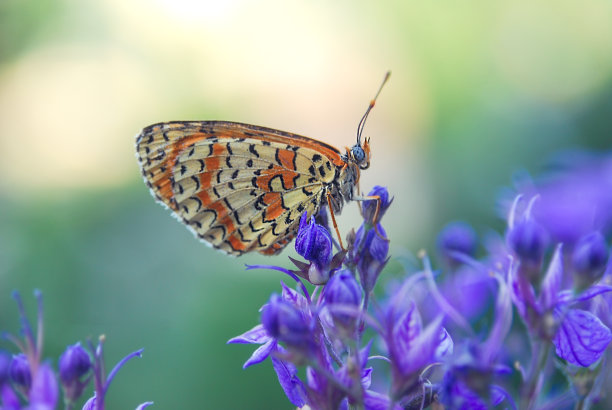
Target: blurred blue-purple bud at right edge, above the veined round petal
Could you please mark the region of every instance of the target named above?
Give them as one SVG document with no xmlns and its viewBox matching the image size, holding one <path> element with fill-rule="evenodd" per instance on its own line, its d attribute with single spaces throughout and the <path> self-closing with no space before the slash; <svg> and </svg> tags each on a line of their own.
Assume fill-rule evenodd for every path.
<svg viewBox="0 0 612 410">
<path fill-rule="evenodd" d="M 588 287 L 603 275 L 608 263 L 608 245 L 600 232 L 582 237 L 572 253 L 572 267 L 579 289 Z"/>
</svg>

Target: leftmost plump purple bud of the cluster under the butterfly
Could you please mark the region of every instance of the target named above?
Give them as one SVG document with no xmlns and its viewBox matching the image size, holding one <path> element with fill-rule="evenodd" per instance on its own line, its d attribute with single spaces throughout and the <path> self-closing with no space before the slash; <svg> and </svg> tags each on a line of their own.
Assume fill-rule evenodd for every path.
<svg viewBox="0 0 612 410">
<path fill-rule="evenodd" d="M 261 313 L 261 323 L 270 336 L 293 347 L 305 347 L 310 327 L 302 312 L 279 295 L 272 295 Z"/>
</svg>

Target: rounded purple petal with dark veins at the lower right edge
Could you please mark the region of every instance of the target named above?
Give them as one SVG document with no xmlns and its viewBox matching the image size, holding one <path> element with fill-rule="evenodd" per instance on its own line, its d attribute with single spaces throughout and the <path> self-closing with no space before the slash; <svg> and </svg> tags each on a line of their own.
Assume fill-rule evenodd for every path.
<svg viewBox="0 0 612 410">
<path fill-rule="evenodd" d="M 567 311 L 553 339 L 557 354 L 571 364 L 588 367 L 596 362 L 608 344 L 612 332 L 597 316 L 580 309 Z"/>
</svg>

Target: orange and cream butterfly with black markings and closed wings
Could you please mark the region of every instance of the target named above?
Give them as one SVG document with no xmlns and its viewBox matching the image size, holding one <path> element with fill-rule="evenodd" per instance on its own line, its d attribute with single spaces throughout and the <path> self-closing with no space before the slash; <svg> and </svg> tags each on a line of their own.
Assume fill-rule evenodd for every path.
<svg viewBox="0 0 612 410">
<path fill-rule="evenodd" d="M 229 121 L 171 121 L 136 137 L 146 185 L 199 239 L 231 255 L 274 255 L 293 239 L 304 213 L 334 214 L 361 197 L 360 171 L 370 165 L 365 120 L 357 142 L 340 150 L 289 132 Z"/>
</svg>

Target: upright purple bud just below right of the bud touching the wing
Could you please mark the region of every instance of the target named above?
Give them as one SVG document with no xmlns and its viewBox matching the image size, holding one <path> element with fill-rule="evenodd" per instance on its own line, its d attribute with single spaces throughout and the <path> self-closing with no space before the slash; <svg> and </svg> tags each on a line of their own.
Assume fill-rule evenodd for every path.
<svg viewBox="0 0 612 410">
<path fill-rule="evenodd" d="M 333 308 L 333 305 L 341 305 L 344 308 L 352 307 L 358 312 L 361 304 L 361 287 L 349 270 L 340 270 L 331 277 L 323 291 L 323 300 L 331 307 L 330 315 L 336 325 L 352 330 L 358 315 L 339 312 Z"/>
</svg>

